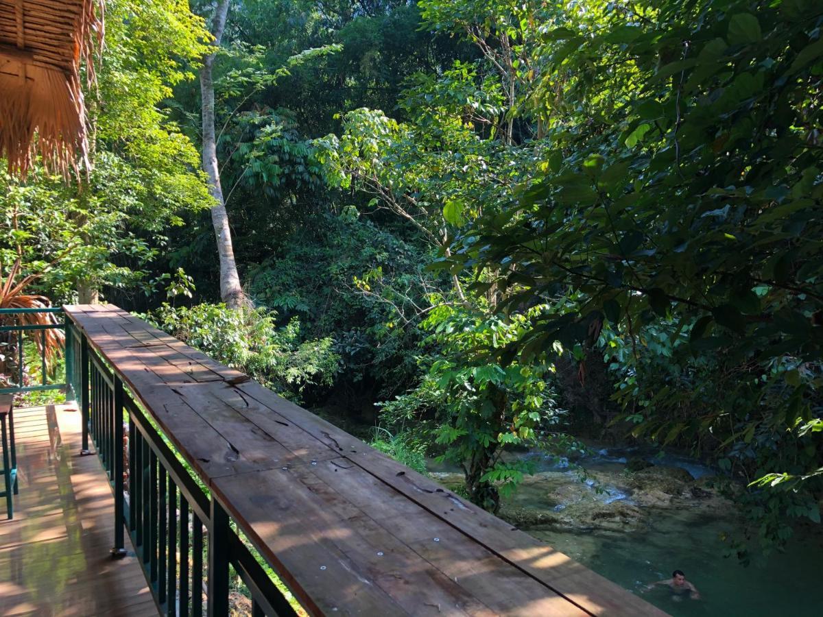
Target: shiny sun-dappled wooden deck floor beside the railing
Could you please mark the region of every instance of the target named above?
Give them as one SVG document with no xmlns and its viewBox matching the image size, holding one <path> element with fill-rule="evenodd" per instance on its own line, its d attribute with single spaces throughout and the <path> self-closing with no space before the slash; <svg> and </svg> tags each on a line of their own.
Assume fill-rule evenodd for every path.
<svg viewBox="0 0 823 617">
<path fill-rule="evenodd" d="M 137 558 L 113 560 L 114 499 L 80 414 L 14 411 L 20 494 L 0 515 L 0 615 L 157 615 Z"/>
</svg>

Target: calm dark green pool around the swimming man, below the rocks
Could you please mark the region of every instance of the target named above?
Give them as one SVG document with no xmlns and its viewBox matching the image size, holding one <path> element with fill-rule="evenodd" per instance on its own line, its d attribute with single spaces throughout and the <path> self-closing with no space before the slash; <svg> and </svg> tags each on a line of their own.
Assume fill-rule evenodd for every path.
<svg viewBox="0 0 823 617">
<path fill-rule="evenodd" d="M 530 533 L 677 617 L 823 615 L 820 534 L 793 540 L 785 553 L 746 568 L 736 558 L 723 557 L 718 536 L 732 527 L 727 519 L 688 511 L 661 511 L 649 518 L 643 531 L 628 533 Z M 663 587 L 642 591 L 676 568 L 697 587 L 701 600 L 674 601 Z"/>
</svg>

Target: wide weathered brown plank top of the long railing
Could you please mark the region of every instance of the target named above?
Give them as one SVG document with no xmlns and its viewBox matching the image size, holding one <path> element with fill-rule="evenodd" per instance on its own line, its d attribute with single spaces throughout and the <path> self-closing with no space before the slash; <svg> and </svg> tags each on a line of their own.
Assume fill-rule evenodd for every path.
<svg viewBox="0 0 823 617">
<path fill-rule="evenodd" d="M 313 615 L 665 615 L 110 304 L 64 307 Z"/>
</svg>

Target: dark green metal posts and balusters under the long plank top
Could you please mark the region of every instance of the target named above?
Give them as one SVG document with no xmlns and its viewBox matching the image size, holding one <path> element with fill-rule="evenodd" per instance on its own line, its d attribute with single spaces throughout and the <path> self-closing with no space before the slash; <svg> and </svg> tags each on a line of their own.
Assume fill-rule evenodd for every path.
<svg viewBox="0 0 823 617">
<path fill-rule="evenodd" d="M 67 393 L 80 402 L 81 454 L 91 454 L 91 435 L 114 492 L 111 554 L 126 554 L 123 532 L 128 530 L 160 613 L 202 615 L 205 573 L 207 615 L 228 615 L 231 565 L 249 589 L 254 617 L 296 615 L 235 531 L 226 504 L 180 461 L 123 377 L 71 319 L 66 323 L 66 365 Z M 123 477 L 127 460 L 128 494 Z"/>
</svg>

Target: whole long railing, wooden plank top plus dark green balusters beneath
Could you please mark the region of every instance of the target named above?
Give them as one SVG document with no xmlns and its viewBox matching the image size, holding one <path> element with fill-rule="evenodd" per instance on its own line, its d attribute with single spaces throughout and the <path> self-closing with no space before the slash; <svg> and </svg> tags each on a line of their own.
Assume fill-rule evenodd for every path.
<svg viewBox="0 0 823 617">
<path fill-rule="evenodd" d="M 272 574 L 309 615 L 663 615 L 119 308 L 65 310 L 113 553 L 128 531 L 165 615 L 227 615 L 231 570 L 254 615 L 295 614 Z"/>
</svg>

